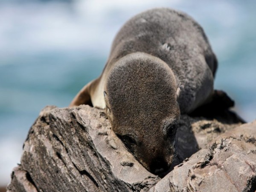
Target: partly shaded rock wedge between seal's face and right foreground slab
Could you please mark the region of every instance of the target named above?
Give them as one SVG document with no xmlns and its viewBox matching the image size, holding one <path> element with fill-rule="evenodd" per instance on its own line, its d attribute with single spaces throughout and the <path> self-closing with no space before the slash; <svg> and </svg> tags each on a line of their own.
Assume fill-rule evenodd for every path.
<svg viewBox="0 0 256 192">
<path fill-rule="evenodd" d="M 198 150 L 205 148 L 214 138 L 225 133 L 241 123 L 230 123 L 226 121 L 218 122 L 216 119 L 209 120 L 204 117 L 190 117 L 182 115 L 180 117 L 180 126 L 177 130 L 178 147 L 177 159 L 173 166 L 181 163 L 184 159 L 190 157 Z"/>
</svg>

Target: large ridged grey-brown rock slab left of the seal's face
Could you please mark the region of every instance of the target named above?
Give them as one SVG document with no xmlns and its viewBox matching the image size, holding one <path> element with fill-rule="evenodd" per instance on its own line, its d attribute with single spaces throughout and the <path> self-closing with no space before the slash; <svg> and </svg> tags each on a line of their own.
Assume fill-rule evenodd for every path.
<svg viewBox="0 0 256 192">
<path fill-rule="evenodd" d="M 143 191 L 159 180 L 125 150 L 105 114 L 85 105 L 45 108 L 29 131 L 19 167 L 38 191 Z M 11 182 L 8 189 L 16 186 Z"/>
</svg>

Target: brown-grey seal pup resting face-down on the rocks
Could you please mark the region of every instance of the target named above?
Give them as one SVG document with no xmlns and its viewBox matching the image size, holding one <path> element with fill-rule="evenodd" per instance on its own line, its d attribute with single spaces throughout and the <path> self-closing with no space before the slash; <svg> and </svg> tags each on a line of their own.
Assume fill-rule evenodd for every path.
<svg viewBox="0 0 256 192">
<path fill-rule="evenodd" d="M 116 35 L 98 79 L 70 106 L 105 108 L 113 131 L 154 174 L 175 155 L 180 113 L 210 102 L 217 59 L 201 26 L 172 9 L 151 9 Z"/>
</svg>

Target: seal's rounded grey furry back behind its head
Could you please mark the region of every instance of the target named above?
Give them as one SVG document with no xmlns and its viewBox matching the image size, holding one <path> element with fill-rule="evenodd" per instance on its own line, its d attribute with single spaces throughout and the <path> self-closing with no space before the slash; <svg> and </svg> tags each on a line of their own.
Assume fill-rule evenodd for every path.
<svg viewBox="0 0 256 192">
<path fill-rule="evenodd" d="M 181 113 L 192 112 L 213 92 L 216 57 L 201 26 L 182 12 L 152 9 L 128 20 L 113 41 L 107 65 L 132 52 L 169 65 L 181 89 Z"/>
</svg>

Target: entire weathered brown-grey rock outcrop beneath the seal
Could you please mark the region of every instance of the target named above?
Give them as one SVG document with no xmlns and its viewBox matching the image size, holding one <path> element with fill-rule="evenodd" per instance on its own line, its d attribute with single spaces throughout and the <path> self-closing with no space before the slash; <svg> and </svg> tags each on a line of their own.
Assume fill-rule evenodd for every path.
<svg viewBox="0 0 256 192">
<path fill-rule="evenodd" d="M 255 191 L 256 121 L 181 116 L 171 172 L 148 172 L 88 105 L 44 108 L 8 191 Z"/>
</svg>

